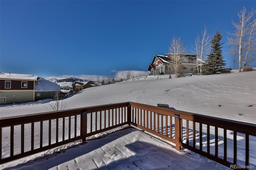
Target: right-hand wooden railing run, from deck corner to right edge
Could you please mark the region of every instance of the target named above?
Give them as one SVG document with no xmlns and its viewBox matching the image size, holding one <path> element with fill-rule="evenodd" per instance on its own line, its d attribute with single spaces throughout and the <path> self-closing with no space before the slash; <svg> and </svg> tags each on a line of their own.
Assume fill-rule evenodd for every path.
<svg viewBox="0 0 256 170">
<path fill-rule="evenodd" d="M 177 150 L 180 150 L 181 147 L 187 148 L 231 168 L 234 165 L 244 169 L 248 169 L 250 165 L 256 167 L 256 160 L 254 160 L 254 164 L 250 163 L 250 160 L 253 160 L 250 150 L 256 149 L 256 144 L 250 142 L 252 138 L 256 141 L 256 125 L 254 124 L 139 103 L 130 102 L 130 105 L 132 107 L 131 125 L 174 143 Z M 223 135 L 219 135 L 220 131 Z M 239 159 L 239 161 L 238 134 L 245 138 L 242 143 L 245 148 L 244 160 Z M 233 138 L 230 140 L 227 136 L 233 136 Z M 233 153 L 231 156 L 227 156 L 227 141 L 232 143 Z"/>
</svg>

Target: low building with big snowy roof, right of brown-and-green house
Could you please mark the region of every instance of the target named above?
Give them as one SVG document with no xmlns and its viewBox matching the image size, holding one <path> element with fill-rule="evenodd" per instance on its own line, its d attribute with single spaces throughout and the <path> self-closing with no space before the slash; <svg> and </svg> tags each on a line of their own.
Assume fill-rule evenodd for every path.
<svg viewBox="0 0 256 170">
<path fill-rule="evenodd" d="M 48 79 L 39 78 L 35 84 L 35 100 L 54 99 L 56 93 L 61 93 L 60 85 L 49 81 Z M 60 96 L 61 94 L 58 94 Z"/>
</svg>

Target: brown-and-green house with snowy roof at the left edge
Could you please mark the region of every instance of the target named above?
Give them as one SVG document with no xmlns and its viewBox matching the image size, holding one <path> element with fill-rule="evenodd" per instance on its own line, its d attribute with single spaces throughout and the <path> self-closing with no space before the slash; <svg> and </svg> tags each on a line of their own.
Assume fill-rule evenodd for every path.
<svg viewBox="0 0 256 170">
<path fill-rule="evenodd" d="M 34 101 L 37 79 L 38 75 L 0 73 L 0 104 Z"/>
</svg>

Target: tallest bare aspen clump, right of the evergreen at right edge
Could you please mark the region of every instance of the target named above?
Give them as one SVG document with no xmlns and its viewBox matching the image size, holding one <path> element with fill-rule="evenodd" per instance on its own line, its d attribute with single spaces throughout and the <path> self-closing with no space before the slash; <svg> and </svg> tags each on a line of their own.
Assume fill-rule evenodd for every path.
<svg viewBox="0 0 256 170">
<path fill-rule="evenodd" d="M 256 52 L 256 10 L 252 8 L 247 13 L 244 7 L 238 13 L 238 23 L 232 20 L 234 33 L 228 33 L 228 45 L 230 45 L 230 53 L 232 56 L 238 55 L 238 70 L 241 72 L 241 61 L 243 62 L 243 70 L 249 67 L 250 62 L 255 57 Z"/>
</svg>

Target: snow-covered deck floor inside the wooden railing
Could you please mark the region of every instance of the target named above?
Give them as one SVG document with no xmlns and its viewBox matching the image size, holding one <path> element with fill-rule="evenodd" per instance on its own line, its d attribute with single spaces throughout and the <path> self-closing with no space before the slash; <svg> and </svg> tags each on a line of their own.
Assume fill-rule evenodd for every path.
<svg viewBox="0 0 256 170">
<path fill-rule="evenodd" d="M 194 158 L 193 158 L 194 157 Z M 0 169 L 36 170 L 208 170 L 229 169 L 200 155 L 179 152 L 170 145 L 134 128 L 90 140 L 42 158 L 22 158 Z M 31 158 L 30 158 L 31 159 Z M 25 163 L 26 162 L 26 163 Z"/>
</svg>

